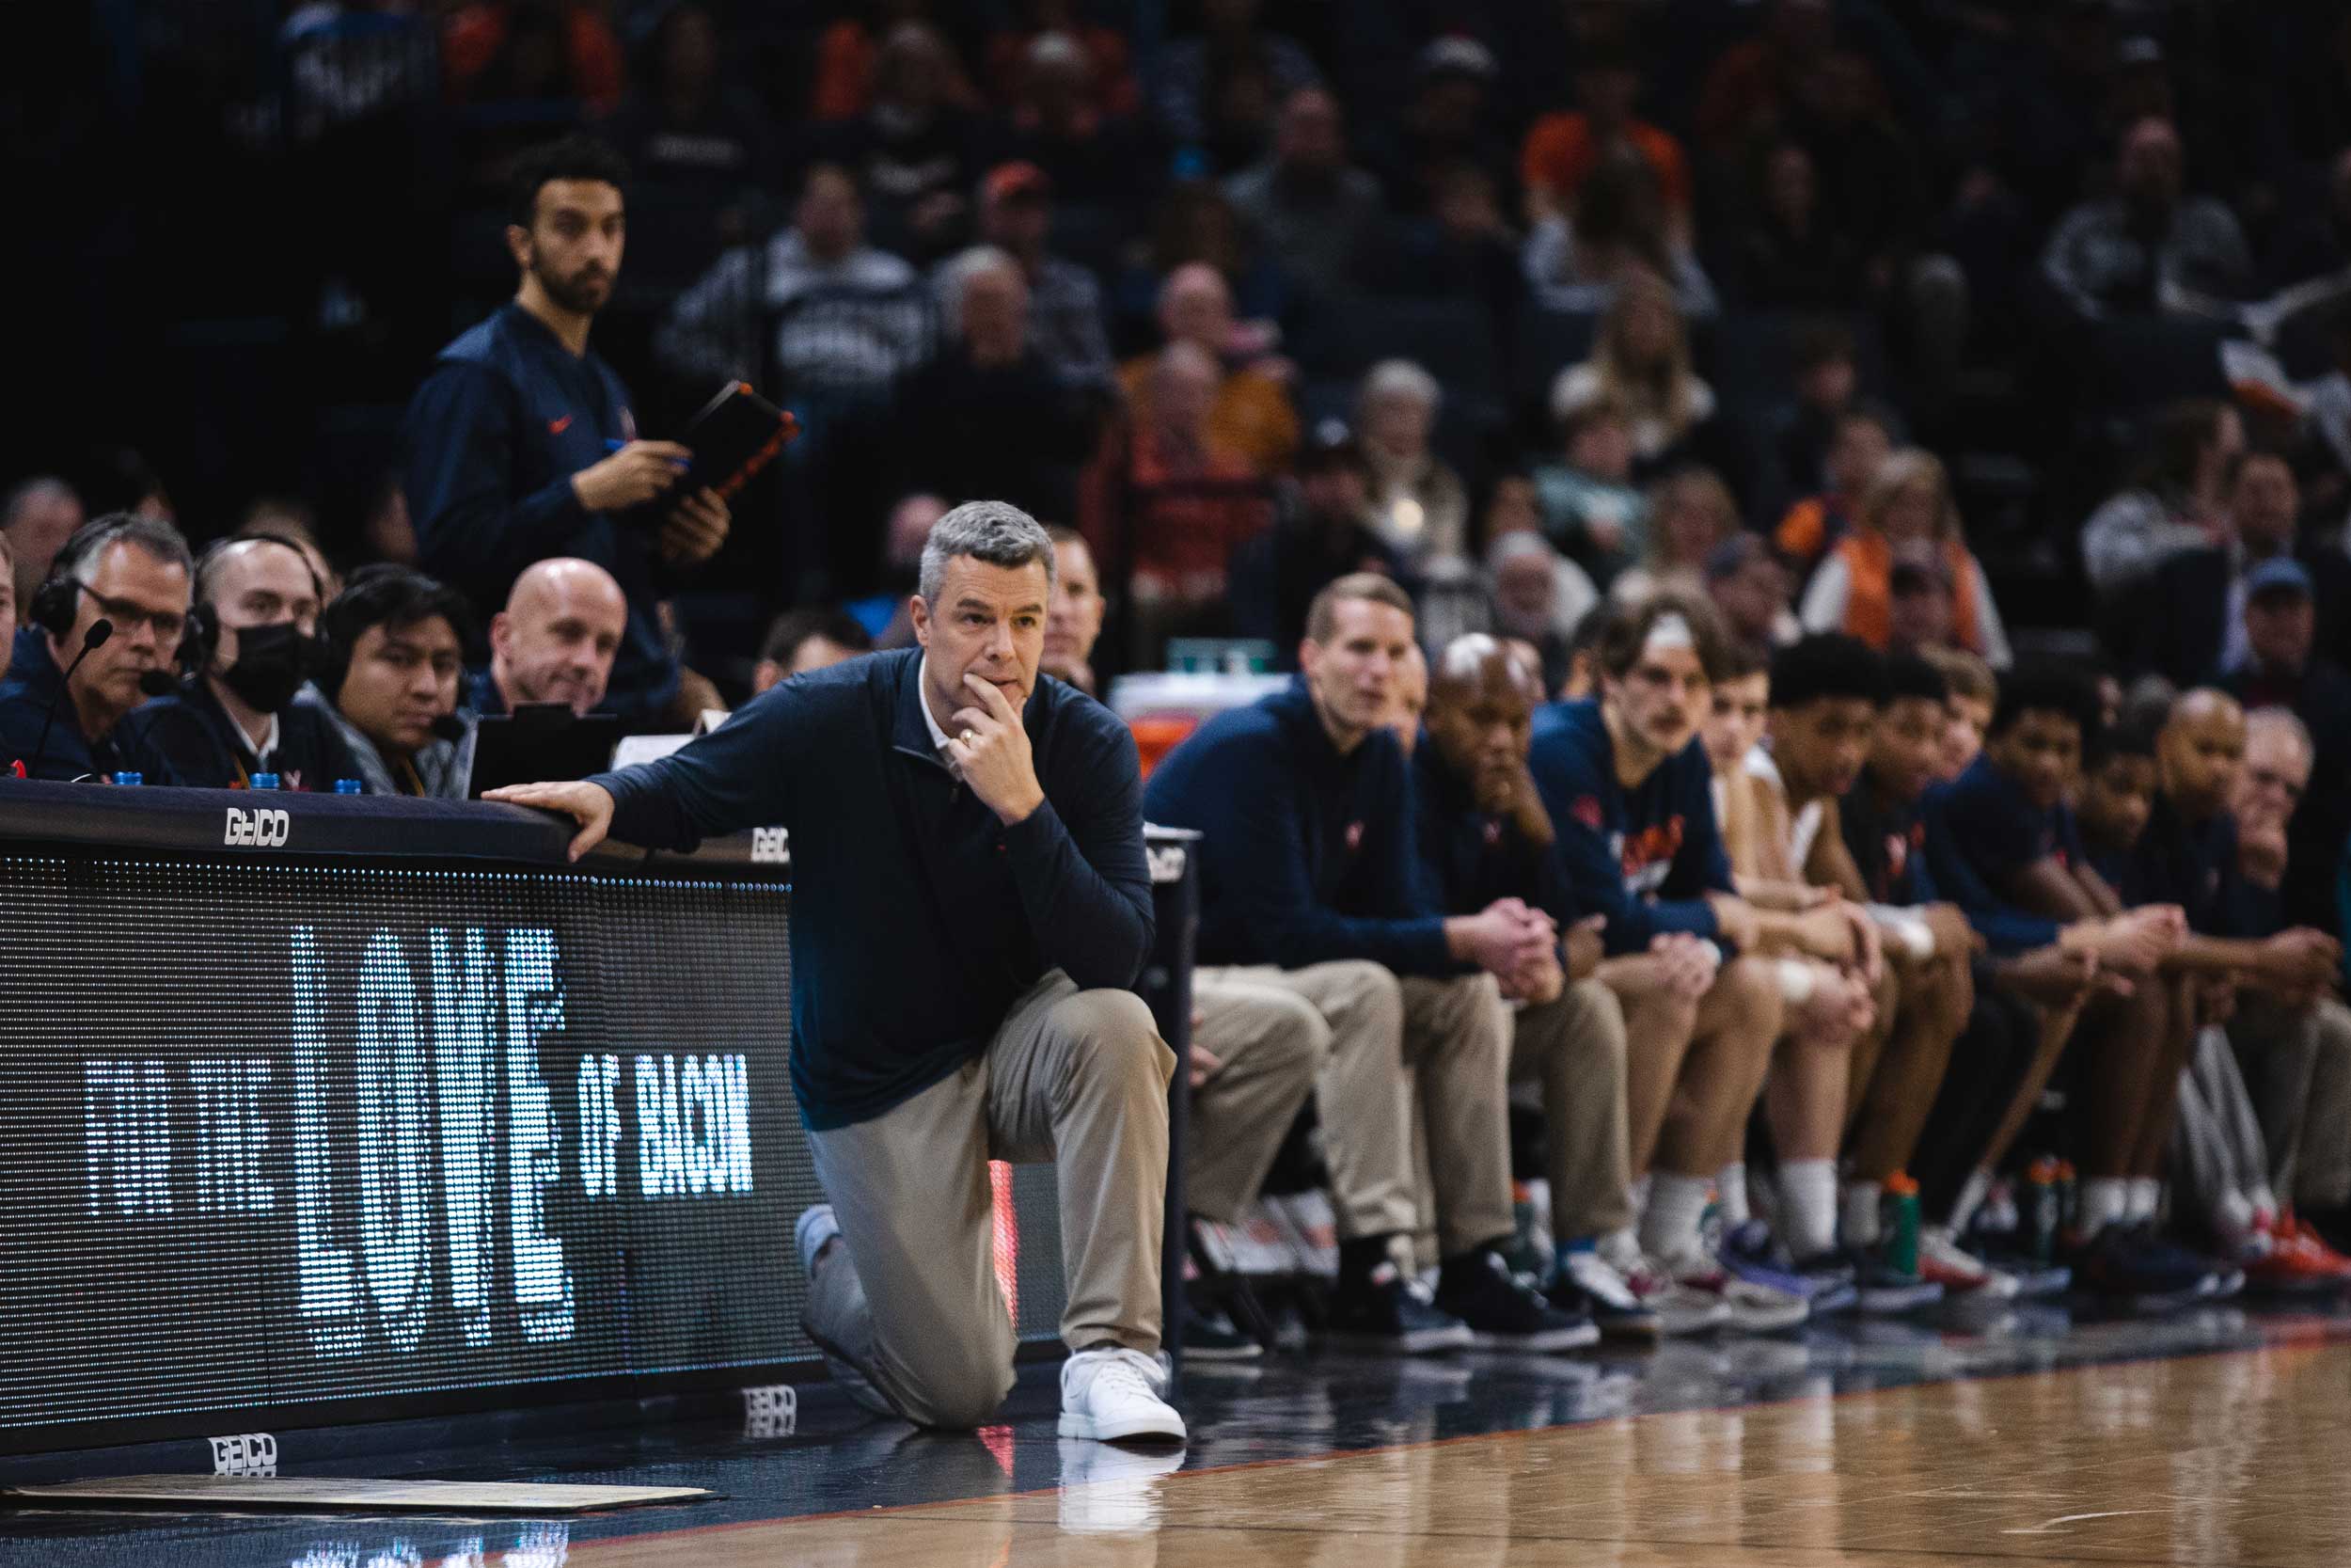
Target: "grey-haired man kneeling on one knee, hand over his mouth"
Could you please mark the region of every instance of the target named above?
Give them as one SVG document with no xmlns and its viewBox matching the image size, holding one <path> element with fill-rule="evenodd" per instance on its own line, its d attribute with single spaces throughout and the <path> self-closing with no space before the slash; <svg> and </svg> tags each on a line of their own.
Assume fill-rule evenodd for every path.
<svg viewBox="0 0 2351 1568">
<path fill-rule="evenodd" d="M 1126 990 L 1152 943 L 1136 743 L 1039 679 L 1053 541 L 973 501 L 931 529 L 917 649 L 783 682 L 672 757 L 494 790 L 684 849 L 792 835 L 792 1088 L 830 1204 L 804 1326 L 853 1394 L 976 1427 L 1013 1385 L 987 1161 L 1056 1161 L 1063 1436 L 1180 1441 L 1159 1234 L 1176 1056 Z"/>
</svg>

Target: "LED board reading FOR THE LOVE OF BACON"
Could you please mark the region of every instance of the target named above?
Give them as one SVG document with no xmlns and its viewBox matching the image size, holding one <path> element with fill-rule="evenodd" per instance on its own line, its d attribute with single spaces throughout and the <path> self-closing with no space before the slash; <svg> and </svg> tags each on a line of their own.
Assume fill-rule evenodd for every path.
<svg viewBox="0 0 2351 1568">
<path fill-rule="evenodd" d="M 788 898 L 12 856 L 0 1432 L 811 1354 Z"/>
</svg>

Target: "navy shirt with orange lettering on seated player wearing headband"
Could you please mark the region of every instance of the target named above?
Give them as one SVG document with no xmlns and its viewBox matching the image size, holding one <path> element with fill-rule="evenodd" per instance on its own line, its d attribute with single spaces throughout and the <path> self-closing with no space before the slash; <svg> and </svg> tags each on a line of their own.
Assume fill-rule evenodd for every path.
<svg viewBox="0 0 2351 1568">
<path fill-rule="evenodd" d="M 1526 766 L 1552 813 L 1578 907 L 1608 917 L 1601 938 L 1610 954 L 1646 952 L 1667 931 L 1723 940 L 1707 893 L 1733 891 L 1730 856 L 1697 741 L 1627 790 L 1601 705 L 1552 703 L 1535 712 Z"/>
</svg>

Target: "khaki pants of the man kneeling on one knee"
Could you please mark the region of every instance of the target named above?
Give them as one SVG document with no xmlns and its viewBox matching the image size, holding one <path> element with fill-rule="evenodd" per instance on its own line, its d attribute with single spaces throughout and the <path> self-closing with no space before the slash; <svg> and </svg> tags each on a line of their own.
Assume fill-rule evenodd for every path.
<svg viewBox="0 0 2351 1568">
<path fill-rule="evenodd" d="M 1013 1385 L 987 1161 L 1053 1161 L 1070 1349 L 1159 1349 L 1166 1086 L 1176 1053 L 1143 999 L 1058 969 L 987 1051 L 872 1121 L 809 1133 L 842 1248 L 806 1331 L 910 1422 L 976 1427 Z"/>
</svg>

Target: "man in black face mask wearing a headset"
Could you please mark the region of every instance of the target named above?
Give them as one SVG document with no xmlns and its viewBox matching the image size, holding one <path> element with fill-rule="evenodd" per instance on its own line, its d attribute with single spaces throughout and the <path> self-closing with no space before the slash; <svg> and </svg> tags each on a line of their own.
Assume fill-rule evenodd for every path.
<svg viewBox="0 0 2351 1568">
<path fill-rule="evenodd" d="M 324 592 L 310 557 L 292 538 L 247 534 L 195 559 L 183 686 L 136 710 L 125 724 L 160 752 L 179 783 L 207 790 L 252 788 L 275 773 L 280 790 L 334 790 L 360 764 L 322 708 L 294 703 L 317 663 Z"/>
</svg>

